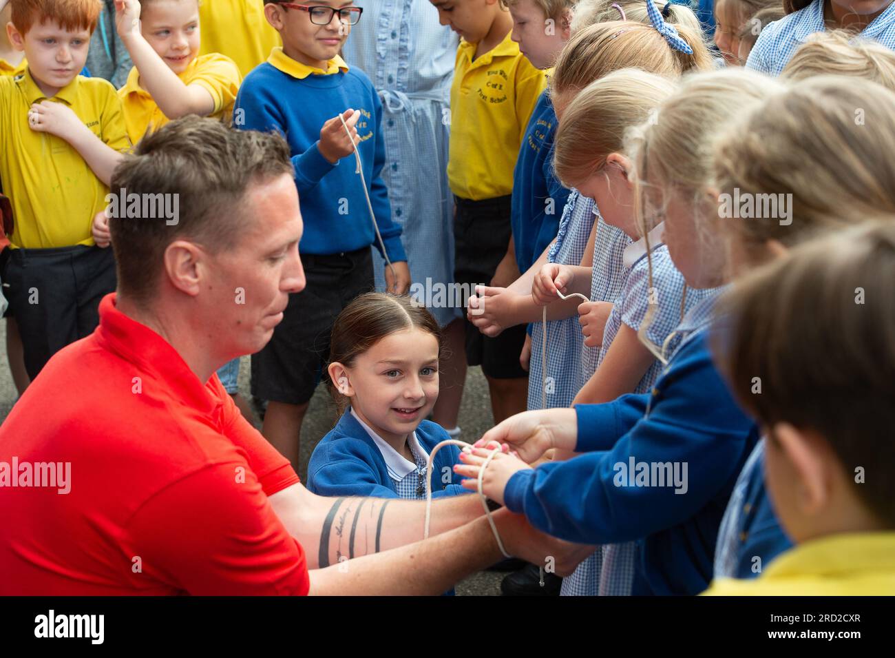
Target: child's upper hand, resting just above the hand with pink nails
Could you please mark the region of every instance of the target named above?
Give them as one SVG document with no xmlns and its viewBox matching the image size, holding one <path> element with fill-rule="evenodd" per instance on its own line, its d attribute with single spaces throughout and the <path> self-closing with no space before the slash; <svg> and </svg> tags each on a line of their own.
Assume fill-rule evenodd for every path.
<svg viewBox="0 0 895 658">
<path fill-rule="evenodd" d="M 518 451 L 531 464 L 551 448 L 575 450 L 578 417 L 575 409 L 567 408 L 524 411 L 491 428 L 473 445 L 484 448 L 490 441 L 507 444 L 507 449 Z"/>
</svg>

